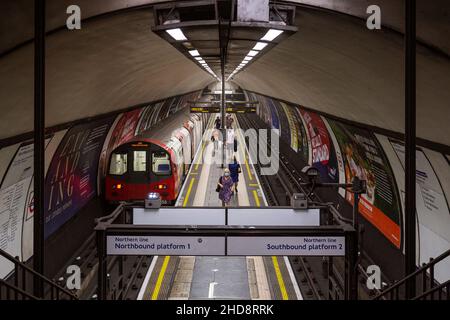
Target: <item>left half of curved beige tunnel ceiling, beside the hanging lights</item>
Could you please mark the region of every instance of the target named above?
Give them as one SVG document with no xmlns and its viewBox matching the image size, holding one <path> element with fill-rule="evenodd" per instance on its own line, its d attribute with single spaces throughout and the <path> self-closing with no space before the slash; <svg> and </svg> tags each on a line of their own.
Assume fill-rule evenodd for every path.
<svg viewBox="0 0 450 320">
<path fill-rule="evenodd" d="M 204 88 L 212 78 L 150 30 L 139 9 L 47 38 L 46 126 Z M 33 129 L 33 46 L 0 59 L 0 138 Z M 11 125 L 15 124 L 15 125 Z"/>
</svg>

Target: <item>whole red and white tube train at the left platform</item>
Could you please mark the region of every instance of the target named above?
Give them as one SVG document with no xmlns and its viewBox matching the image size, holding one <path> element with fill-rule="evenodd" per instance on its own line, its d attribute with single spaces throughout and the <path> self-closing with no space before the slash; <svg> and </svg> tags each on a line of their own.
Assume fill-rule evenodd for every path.
<svg viewBox="0 0 450 320">
<path fill-rule="evenodd" d="M 186 108 L 112 150 L 105 179 L 106 200 L 143 200 L 150 192 L 157 192 L 162 203 L 174 203 L 208 118 L 207 114 L 190 114 Z"/>
</svg>

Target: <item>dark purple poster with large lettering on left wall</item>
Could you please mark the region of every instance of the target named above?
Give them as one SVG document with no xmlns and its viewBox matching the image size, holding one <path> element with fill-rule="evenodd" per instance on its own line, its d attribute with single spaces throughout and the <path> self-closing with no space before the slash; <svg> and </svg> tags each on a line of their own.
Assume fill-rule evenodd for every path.
<svg viewBox="0 0 450 320">
<path fill-rule="evenodd" d="M 77 125 L 58 146 L 45 179 L 46 238 L 96 196 L 98 159 L 113 120 Z"/>
</svg>

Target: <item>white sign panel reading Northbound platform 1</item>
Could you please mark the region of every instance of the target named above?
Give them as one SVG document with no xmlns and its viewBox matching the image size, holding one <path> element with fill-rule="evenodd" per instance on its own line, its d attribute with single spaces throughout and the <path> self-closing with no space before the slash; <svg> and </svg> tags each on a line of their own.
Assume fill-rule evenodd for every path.
<svg viewBox="0 0 450 320">
<path fill-rule="evenodd" d="M 108 255 L 223 256 L 224 237 L 108 236 Z"/>
</svg>

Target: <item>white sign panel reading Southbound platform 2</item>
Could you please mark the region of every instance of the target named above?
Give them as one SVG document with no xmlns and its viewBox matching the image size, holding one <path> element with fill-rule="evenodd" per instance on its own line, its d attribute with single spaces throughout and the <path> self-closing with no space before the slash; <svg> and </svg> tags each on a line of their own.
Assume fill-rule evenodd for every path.
<svg viewBox="0 0 450 320">
<path fill-rule="evenodd" d="M 344 256 L 345 237 L 228 237 L 229 256 Z"/>
</svg>

